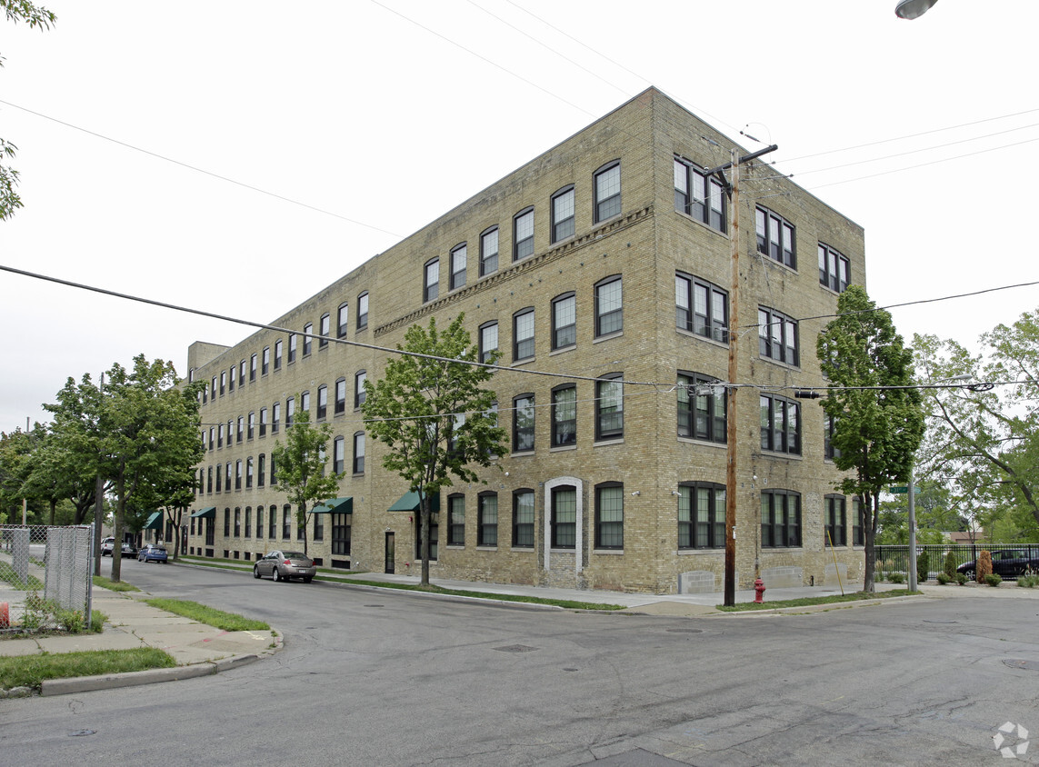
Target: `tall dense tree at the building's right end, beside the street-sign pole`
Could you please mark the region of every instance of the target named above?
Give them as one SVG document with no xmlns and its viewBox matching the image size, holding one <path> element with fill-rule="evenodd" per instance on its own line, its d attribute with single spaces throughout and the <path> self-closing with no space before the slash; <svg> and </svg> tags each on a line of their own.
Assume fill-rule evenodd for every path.
<svg viewBox="0 0 1039 767">
<path fill-rule="evenodd" d="M 819 335 L 817 353 L 831 387 L 822 404 L 835 421 L 833 462 L 842 471 L 854 471 L 836 487 L 862 499 L 862 590 L 873 591 L 880 493 L 889 483 L 908 481 L 924 435 L 912 349 L 895 330 L 890 313 L 877 309 L 865 289 L 853 285 L 837 299 L 837 317 Z"/>
</svg>

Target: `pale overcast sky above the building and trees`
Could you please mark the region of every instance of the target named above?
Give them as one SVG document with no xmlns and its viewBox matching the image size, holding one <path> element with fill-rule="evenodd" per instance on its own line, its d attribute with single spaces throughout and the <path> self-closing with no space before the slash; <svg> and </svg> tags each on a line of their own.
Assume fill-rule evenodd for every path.
<svg viewBox="0 0 1039 767">
<path fill-rule="evenodd" d="M 3 266 L 267 322 L 655 85 L 864 227 L 881 306 L 1039 281 L 1035 0 L 46 4 L 50 31 L 0 19 L 25 203 Z M 192 341 L 249 332 L 0 287 L 4 431 L 70 375 L 139 352 L 184 374 Z M 1037 303 L 893 314 L 975 346 Z"/>
</svg>

